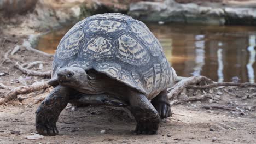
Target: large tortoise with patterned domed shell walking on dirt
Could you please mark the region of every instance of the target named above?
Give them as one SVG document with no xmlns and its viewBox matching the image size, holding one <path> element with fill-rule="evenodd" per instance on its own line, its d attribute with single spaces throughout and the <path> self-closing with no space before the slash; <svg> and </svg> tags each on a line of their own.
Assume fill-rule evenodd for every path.
<svg viewBox="0 0 256 144">
<path fill-rule="evenodd" d="M 57 47 L 49 81 L 54 89 L 36 111 L 36 130 L 57 135 L 61 111 L 79 103 L 129 107 L 135 133 L 156 134 L 160 119 L 171 116 L 167 88 L 176 77 L 143 22 L 119 13 L 87 17 Z"/>
</svg>

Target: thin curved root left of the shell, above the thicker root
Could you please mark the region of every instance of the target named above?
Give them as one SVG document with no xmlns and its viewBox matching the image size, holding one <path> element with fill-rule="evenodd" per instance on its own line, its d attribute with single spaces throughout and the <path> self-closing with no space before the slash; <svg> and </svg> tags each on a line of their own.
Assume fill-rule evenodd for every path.
<svg viewBox="0 0 256 144">
<path fill-rule="evenodd" d="M 51 71 L 45 71 L 45 72 L 39 72 L 39 71 L 33 71 L 23 68 L 19 62 L 16 62 L 15 67 L 22 71 L 22 73 L 25 73 L 27 75 L 32 76 L 41 76 L 41 77 L 51 77 Z"/>
</svg>

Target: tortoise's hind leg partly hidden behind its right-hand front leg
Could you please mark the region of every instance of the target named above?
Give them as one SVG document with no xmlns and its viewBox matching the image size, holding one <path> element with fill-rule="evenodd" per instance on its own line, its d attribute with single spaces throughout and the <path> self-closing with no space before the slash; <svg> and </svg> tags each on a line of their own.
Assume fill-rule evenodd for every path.
<svg viewBox="0 0 256 144">
<path fill-rule="evenodd" d="M 167 95 L 167 90 L 165 90 L 160 92 L 154 99 L 151 100 L 152 105 L 158 111 L 161 118 L 171 116 L 171 106 Z"/>
</svg>

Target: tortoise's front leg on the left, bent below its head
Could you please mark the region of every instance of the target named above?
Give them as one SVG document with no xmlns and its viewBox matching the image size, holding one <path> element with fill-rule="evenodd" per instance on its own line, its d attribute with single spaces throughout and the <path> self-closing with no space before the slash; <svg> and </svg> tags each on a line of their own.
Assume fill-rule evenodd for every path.
<svg viewBox="0 0 256 144">
<path fill-rule="evenodd" d="M 56 122 L 67 106 L 70 89 L 61 85 L 55 87 L 36 111 L 36 130 L 39 134 L 54 136 L 59 133 Z"/>
</svg>

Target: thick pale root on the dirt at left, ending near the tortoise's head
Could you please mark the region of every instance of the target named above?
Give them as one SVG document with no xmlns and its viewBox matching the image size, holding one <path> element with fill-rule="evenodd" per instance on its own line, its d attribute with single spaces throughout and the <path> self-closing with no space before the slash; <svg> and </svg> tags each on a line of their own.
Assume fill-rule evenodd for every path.
<svg viewBox="0 0 256 144">
<path fill-rule="evenodd" d="M 7 94 L 7 96 L 4 98 L 4 101 L 0 101 L 0 104 L 17 98 L 17 95 L 19 94 L 32 93 L 32 92 L 39 91 L 41 89 L 45 89 L 49 87 L 50 85 L 48 85 L 47 82 L 35 82 L 30 86 L 21 86 L 21 87 L 14 88 Z"/>
</svg>

